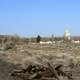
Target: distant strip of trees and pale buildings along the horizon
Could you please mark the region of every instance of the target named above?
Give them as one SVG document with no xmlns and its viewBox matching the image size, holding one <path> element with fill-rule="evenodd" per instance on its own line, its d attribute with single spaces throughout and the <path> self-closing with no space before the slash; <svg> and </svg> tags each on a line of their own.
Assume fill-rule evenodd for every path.
<svg viewBox="0 0 80 80">
<path fill-rule="evenodd" d="M 71 42 L 75 44 L 80 43 L 80 36 L 71 36 L 68 29 L 64 31 L 63 36 L 55 36 L 51 35 L 50 37 L 42 37 L 41 35 L 37 35 L 36 37 L 25 37 L 22 38 L 19 35 L 0 35 L 0 43 L 5 43 L 6 41 L 14 41 L 17 43 L 40 43 L 40 44 L 55 44 L 55 43 L 63 43 L 63 42 Z"/>
</svg>

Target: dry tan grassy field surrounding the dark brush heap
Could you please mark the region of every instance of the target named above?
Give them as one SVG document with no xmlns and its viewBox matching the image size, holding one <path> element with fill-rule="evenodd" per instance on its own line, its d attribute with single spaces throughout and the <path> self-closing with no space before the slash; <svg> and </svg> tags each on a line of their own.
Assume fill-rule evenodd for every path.
<svg viewBox="0 0 80 80">
<path fill-rule="evenodd" d="M 7 50 L 0 47 L 0 80 L 22 80 L 15 79 L 11 73 L 17 69 L 25 69 L 29 64 L 46 65 L 47 62 L 54 67 L 63 65 L 62 70 L 70 73 L 72 80 L 80 80 L 80 44 L 70 43 L 21 44 Z M 62 75 L 59 79 L 71 80 Z"/>
</svg>

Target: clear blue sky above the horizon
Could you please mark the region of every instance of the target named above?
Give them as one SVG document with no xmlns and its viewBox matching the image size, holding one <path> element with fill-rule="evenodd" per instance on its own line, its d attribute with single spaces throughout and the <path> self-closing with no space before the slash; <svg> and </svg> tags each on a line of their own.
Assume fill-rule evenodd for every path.
<svg viewBox="0 0 80 80">
<path fill-rule="evenodd" d="M 0 34 L 80 35 L 80 0 L 0 0 Z"/>
</svg>

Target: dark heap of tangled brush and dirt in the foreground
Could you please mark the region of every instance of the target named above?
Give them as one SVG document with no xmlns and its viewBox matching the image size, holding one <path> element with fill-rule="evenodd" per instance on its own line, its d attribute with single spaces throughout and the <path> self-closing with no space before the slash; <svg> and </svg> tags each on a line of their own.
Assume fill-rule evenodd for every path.
<svg viewBox="0 0 80 80">
<path fill-rule="evenodd" d="M 63 65 L 52 66 L 49 62 L 47 65 L 30 64 L 26 69 L 14 70 L 11 73 L 11 77 L 21 80 L 73 80 L 72 73 L 70 71 L 63 71 L 61 69 Z"/>
</svg>

